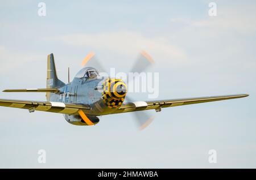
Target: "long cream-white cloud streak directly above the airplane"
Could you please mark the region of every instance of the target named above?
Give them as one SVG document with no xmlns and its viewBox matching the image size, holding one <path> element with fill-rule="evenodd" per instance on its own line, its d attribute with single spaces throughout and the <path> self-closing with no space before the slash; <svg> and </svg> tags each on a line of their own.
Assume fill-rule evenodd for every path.
<svg viewBox="0 0 256 180">
<path fill-rule="evenodd" d="M 92 49 L 104 49 L 115 53 L 136 54 L 146 50 L 150 54 L 165 55 L 168 58 L 185 58 L 185 52 L 170 44 L 163 37 L 148 38 L 136 32 L 102 32 L 64 35 L 55 38 L 65 44 L 89 46 Z"/>
</svg>

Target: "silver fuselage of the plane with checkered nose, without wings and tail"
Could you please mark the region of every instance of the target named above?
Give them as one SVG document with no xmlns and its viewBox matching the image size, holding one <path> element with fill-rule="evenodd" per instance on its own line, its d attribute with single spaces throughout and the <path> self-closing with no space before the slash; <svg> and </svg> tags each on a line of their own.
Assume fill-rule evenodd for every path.
<svg viewBox="0 0 256 180">
<path fill-rule="evenodd" d="M 88 104 L 91 106 L 89 118 L 98 115 L 113 113 L 125 100 L 126 84 L 121 79 L 102 77 L 99 75 L 86 76 L 88 71 L 96 71 L 92 67 L 82 68 L 71 83 L 60 87 L 60 93 L 51 93 L 53 102 L 65 102 L 71 104 Z M 77 114 L 65 114 L 65 119 L 73 125 L 84 125 Z"/>
</svg>

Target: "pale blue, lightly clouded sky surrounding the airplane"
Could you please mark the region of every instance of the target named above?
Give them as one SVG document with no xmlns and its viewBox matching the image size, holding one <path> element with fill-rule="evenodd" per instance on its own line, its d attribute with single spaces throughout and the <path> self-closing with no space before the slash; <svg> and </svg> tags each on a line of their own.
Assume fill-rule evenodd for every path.
<svg viewBox="0 0 256 180">
<path fill-rule="evenodd" d="M 39 16 L 38 4 L 46 4 Z M 209 16 L 209 3 L 217 5 Z M 250 96 L 163 109 L 139 131 L 133 113 L 72 126 L 63 115 L 0 107 L 0 168 L 256 168 L 255 1 L 0 1 L 0 90 L 45 88 L 47 55 L 68 81 L 94 52 L 129 72 L 146 50 L 159 97 Z M 146 93 L 131 93 L 136 101 Z M 44 93 L 0 98 L 46 101 Z M 38 162 L 38 151 L 46 163 Z M 209 151 L 217 163 L 209 163 Z"/>
</svg>

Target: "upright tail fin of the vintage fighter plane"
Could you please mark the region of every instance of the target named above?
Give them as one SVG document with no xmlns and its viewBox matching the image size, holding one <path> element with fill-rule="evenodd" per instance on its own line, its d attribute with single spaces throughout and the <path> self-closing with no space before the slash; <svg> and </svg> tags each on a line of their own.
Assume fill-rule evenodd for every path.
<svg viewBox="0 0 256 180">
<path fill-rule="evenodd" d="M 49 54 L 47 58 L 47 88 L 57 88 L 65 85 L 57 78 L 56 67 L 53 54 Z M 46 93 L 47 101 L 49 101 L 50 93 Z"/>
</svg>

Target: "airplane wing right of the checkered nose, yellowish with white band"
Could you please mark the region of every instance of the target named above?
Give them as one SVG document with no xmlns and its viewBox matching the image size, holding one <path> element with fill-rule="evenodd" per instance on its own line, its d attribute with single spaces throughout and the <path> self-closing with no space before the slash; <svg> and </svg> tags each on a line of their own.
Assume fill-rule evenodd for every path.
<svg viewBox="0 0 256 180">
<path fill-rule="evenodd" d="M 155 109 L 159 112 L 162 108 L 170 108 L 174 106 L 182 106 L 189 104 L 198 104 L 203 102 L 229 100 L 232 98 L 242 98 L 249 95 L 226 95 L 226 96 L 212 96 L 212 97 L 196 97 L 196 98 L 181 98 L 175 100 L 161 100 L 161 101 L 138 101 L 126 102 L 115 113 L 136 112 L 142 110 Z"/>
</svg>

